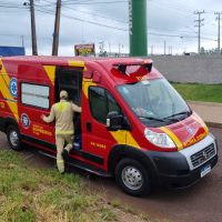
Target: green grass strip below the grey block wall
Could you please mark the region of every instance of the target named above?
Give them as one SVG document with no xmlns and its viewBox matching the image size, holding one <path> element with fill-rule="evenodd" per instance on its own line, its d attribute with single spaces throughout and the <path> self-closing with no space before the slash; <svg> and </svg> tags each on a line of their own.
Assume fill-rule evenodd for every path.
<svg viewBox="0 0 222 222">
<path fill-rule="evenodd" d="M 222 103 L 222 84 L 172 83 L 172 85 L 185 100 Z"/>
</svg>

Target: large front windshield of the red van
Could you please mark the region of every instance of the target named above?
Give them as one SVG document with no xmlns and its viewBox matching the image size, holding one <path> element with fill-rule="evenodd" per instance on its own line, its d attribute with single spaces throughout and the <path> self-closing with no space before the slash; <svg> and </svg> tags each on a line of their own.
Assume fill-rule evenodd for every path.
<svg viewBox="0 0 222 222">
<path fill-rule="evenodd" d="M 165 79 L 119 85 L 118 91 L 148 127 L 171 124 L 191 114 L 188 104 Z"/>
</svg>

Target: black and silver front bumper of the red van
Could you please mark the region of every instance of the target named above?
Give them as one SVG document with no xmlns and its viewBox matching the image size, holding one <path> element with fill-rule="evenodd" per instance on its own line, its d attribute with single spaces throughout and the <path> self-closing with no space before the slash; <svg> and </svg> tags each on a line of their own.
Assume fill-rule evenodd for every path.
<svg viewBox="0 0 222 222">
<path fill-rule="evenodd" d="M 213 145 L 213 152 L 201 159 L 205 149 Z M 193 164 L 192 158 L 198 153 L 199 164 Z M 147 152 L 152 163 L 152 176 L 158 179 L 161 186 L 182 189 L 198 182 L 205 167 L 212 169 L 218 162 L 218 145 L 215 138 L 210 134 L 199 143 L 179 152 Z M 153 173 L 154 172 L 154 173 Z"/>
</svg>

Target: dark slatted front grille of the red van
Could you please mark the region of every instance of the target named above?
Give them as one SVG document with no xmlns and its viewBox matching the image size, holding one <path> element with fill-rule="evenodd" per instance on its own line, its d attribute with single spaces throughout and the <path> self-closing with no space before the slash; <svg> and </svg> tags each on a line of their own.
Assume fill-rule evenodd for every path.
<svg viewBox="0 0 222 222">
<path fill-rule="evenodd" d="M 204 148 L 203 150 L 192 154 L 191 155 L 191 162 L 192 162 L 193 168 L 198 168 L 203 162 L 206 162 L 214 154 L 215 154 L 215 149 L 214 149 L 213 143 L 211 145 Z"/>
</svg>

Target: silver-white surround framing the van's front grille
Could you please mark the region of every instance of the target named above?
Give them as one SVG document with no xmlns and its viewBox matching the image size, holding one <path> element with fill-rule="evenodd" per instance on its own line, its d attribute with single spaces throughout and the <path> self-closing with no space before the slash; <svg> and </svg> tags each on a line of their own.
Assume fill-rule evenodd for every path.
<svg viewBox="0 0 222 222">
<path fill-rule="evenodd" d="M 216 154 L 216 144 L 215 144 L 215 140 L 214 138 L 209 134 L 208 137 L 205 137 L 203 140 L 201 140 L 200 142 L 189 147 L 189 148 L 185 148 L 183 150 L 180 150 L 179 152 L 188 161 L 188 164 L 190 167 L 190 170 L 194 170 L 195 168 L 193 168 L 193 164 L 191 162 L 191 155 L 194 154 L 194 153 L 198 153 L 199 151 L 203 150 L 204 148 L 209 147 L 210 144 L 214 144 L 214 150 L 215 150 L 215 154 Z M 210 159 L 212 159 L 213 157 L 212 155 Z M 208 162 L 210 159 L 208 159 L 206 161 L 204 161 L 202 164 L 204 164 L 205 162 Z M 201 165 L 202 165 L 201 164 Z M 198 165 L 196 168 L 199 168 L 200 165 Z"/>
</svg>

